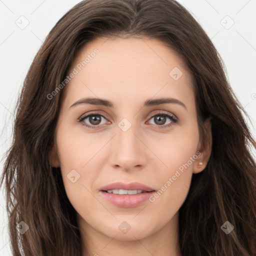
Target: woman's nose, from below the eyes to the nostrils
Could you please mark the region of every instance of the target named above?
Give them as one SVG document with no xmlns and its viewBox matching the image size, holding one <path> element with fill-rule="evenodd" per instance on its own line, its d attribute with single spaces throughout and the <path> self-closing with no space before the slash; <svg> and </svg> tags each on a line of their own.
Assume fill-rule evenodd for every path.
<svg viewBox="0 0 256 256">
<path fill-rule="evenodd" d="M 146 146 L 145 137 L 135 126 L 132 124 L 126 131 L 116 127 L 117 134 L 111 140 L 109 152 L 113 168 L 130 171 L 145 167 L 150 150 Z"/>
</svg>

